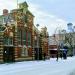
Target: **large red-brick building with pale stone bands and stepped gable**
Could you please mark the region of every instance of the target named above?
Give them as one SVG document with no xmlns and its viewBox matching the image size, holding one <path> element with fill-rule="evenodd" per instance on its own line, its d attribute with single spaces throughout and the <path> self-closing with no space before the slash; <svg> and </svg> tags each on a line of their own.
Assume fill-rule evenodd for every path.
<svg viewBox="0 0 75 75">
<path fill-rule="evenodd" d="M 7 9 L 3 10 L 0 16 L 0 62 L 43 59 L 43 37 L 33 21 L 34 15 L 26 2 L 20 3 L 19 8 L 10 13 Z M 48 41 L 45 45 L 48 46 Z M 48 48 L 45 50 L 48 51 Z M 48 56 L 48 52 L 46 54 Z"/>
</svg>

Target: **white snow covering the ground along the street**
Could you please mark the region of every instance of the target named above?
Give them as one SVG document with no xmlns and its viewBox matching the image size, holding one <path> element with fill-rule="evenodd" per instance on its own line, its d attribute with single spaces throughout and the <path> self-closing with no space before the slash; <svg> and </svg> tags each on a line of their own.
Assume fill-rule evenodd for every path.
<svg viewBox="0 0 75 75">
<path fill-rule="evenodd" d="M 0 64 L 0 75 L 75 75 L 74 70 L 75 57 Z"/>
</svg>

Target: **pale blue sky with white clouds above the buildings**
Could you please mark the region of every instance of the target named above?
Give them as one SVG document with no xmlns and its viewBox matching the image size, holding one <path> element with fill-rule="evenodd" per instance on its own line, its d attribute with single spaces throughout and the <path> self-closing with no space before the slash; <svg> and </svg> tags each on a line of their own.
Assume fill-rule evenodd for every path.
<svg viewBox="0 0 75 75">
<path fill-rule="evenodd" d="M 56 33 L 56 29 L 66 29 L 67 23 L 75 25 L 75 0 L 18 0 L 26 1 L 29 10 L 35 16 L 34 25 L 39 29 L 46 26 L 49 35 Z M 17 0 L 0 0 L 0 15 L 3 9 L 12 10 L 17 7 Z"/>
</svg>

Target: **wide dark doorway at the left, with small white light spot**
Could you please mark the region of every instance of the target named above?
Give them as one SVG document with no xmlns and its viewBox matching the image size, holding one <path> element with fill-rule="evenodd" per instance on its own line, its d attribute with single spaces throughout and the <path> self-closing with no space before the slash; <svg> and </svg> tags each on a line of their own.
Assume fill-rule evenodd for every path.
<svg viewBox="0 0 75 75">
<path fill-rule="evenodd" d="M 6 63 L 14 62 L 15 61 L 14 54 L 15 54 L 14 47 L 4 47 L 3 61 Z"/>
</svg>

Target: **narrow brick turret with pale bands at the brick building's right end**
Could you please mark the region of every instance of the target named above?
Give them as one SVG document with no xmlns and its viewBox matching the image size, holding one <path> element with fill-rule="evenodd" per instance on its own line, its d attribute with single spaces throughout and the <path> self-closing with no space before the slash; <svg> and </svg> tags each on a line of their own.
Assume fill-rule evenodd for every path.
<svg viewBox="0 0 75 75">
<path fill-rule="evenodd" d="M 46 54 L 46 57 L 49 58 L 49 34 L 47 32 L 47 27 L 41 28 L 40 39 L 43 54 Z"/>
</svg>

